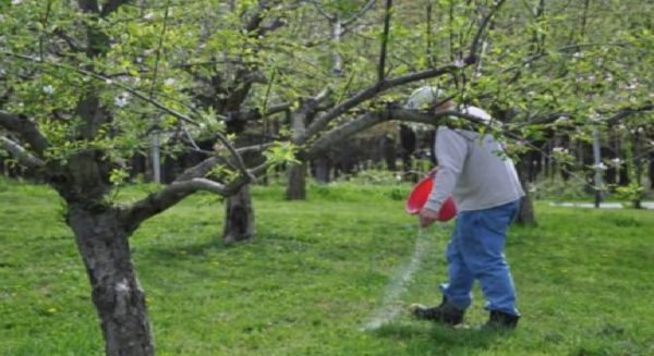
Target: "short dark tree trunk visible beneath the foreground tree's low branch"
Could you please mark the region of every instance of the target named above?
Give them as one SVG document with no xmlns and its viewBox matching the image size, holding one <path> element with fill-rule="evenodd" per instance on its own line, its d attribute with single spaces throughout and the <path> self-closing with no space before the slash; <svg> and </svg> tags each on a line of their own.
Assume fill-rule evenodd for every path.
<svg viewBox="0 0 654 356">
<path fill-rule="evenodd" d="M 225 229 L 222 242 L 233 244 L 254 235 L 254 209 L 250 185 L 244 185 L 235 195 L 225 200 Z"/>
</svg>

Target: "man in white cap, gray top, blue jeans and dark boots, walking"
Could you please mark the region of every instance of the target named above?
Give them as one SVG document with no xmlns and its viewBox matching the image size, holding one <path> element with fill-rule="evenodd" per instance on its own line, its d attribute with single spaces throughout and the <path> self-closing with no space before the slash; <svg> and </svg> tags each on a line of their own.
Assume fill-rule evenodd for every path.
<svg viewBox="0 0 654 356">
<path fill-rule="evenodd" d="M 407 108 L 425 107 L 440 112 L 453 109 L 453 103 L 437 88 L 424 87 L 411 95 Z M 468 106 L 459 111 L 492 124 L 491 115 L 480 108 Z M 520 312 L 504 248 L 507 229 L 524 192 L 513 163 L 502 151 L 501 144 L 491 135 L 480 137 L 471 130 L 438 128 L 435 152 L 439 165 L 427 204 L 419 213 L 420 224 L 433 224 L 450 195 L 459 213 L 446 251 L 449 281 L 440 286 L 443 303 L 436 307 L 413 306 L 416 318 L 461 323 L 472 303 L 472 285 L 479 280 L 487 299 L 485 308 L 491 311 L 484 328 L 513 329 L 518 324 Z"/>
</svg>

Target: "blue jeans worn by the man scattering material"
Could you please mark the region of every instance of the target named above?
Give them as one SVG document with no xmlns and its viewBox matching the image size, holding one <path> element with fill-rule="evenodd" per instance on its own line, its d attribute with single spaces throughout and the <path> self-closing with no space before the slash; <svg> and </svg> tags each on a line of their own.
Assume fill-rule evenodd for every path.
<svg viewBox="0 0 654 356">
<path fill-rule="evenodd" d="M 462 211 L 447 246 L 449 283 L 440 285 L 447 300 L 465 309 L 472 285 L 479 280 L 487 299 L 485 308 L 519 316 L 516 290 L 504 248 L 507 229 L 518 214 L 520 200 L 498 207 Z"/>
</svg>

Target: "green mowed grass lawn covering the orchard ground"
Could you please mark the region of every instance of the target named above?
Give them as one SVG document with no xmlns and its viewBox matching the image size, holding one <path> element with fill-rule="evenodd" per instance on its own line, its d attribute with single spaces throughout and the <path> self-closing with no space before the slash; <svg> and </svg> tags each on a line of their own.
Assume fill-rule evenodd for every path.
<svg viewBox="0 0 654 356">
<path fill-rule="evenodd" d="M 119 196 L 133 199 L 148 187 Z M 536 206 L 507 255 L 523 314 L 512 333 L 449 329 L 400 314 L 362 327 L 412 255 L 408 186 L 313 186 L 306 201 L 255 187 L 257 235 L 220 243 L 223 207 L 196 195 L 132 237 L 159 355 L 654 355 L 654 211 Z M 102 355 L 87 278 L 57 195 L 0 181 L 0 355 Z M 451 225 L 400 307 L 439 302 Z M 386 300 L 388 302 L 388 300 Z M 483 297 L 467 323 L 487 318 Z"/>
</svg>

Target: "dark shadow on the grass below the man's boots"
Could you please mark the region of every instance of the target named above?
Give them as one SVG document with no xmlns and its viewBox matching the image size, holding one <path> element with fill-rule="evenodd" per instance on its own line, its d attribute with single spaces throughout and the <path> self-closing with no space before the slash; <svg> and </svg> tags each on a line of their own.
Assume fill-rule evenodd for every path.
<svg viewBox="0 0 654 356">
<path fill-rule="evenodd" d="M 433 323 L 389 323 L 373 331 L 379 337 L 404 342 L 412 352 L 423 355 L 470 355 L 474 349 L 487 349 L 506 331 L 482 331 L 475 328 L 449 328 Z"/>
</svg>

